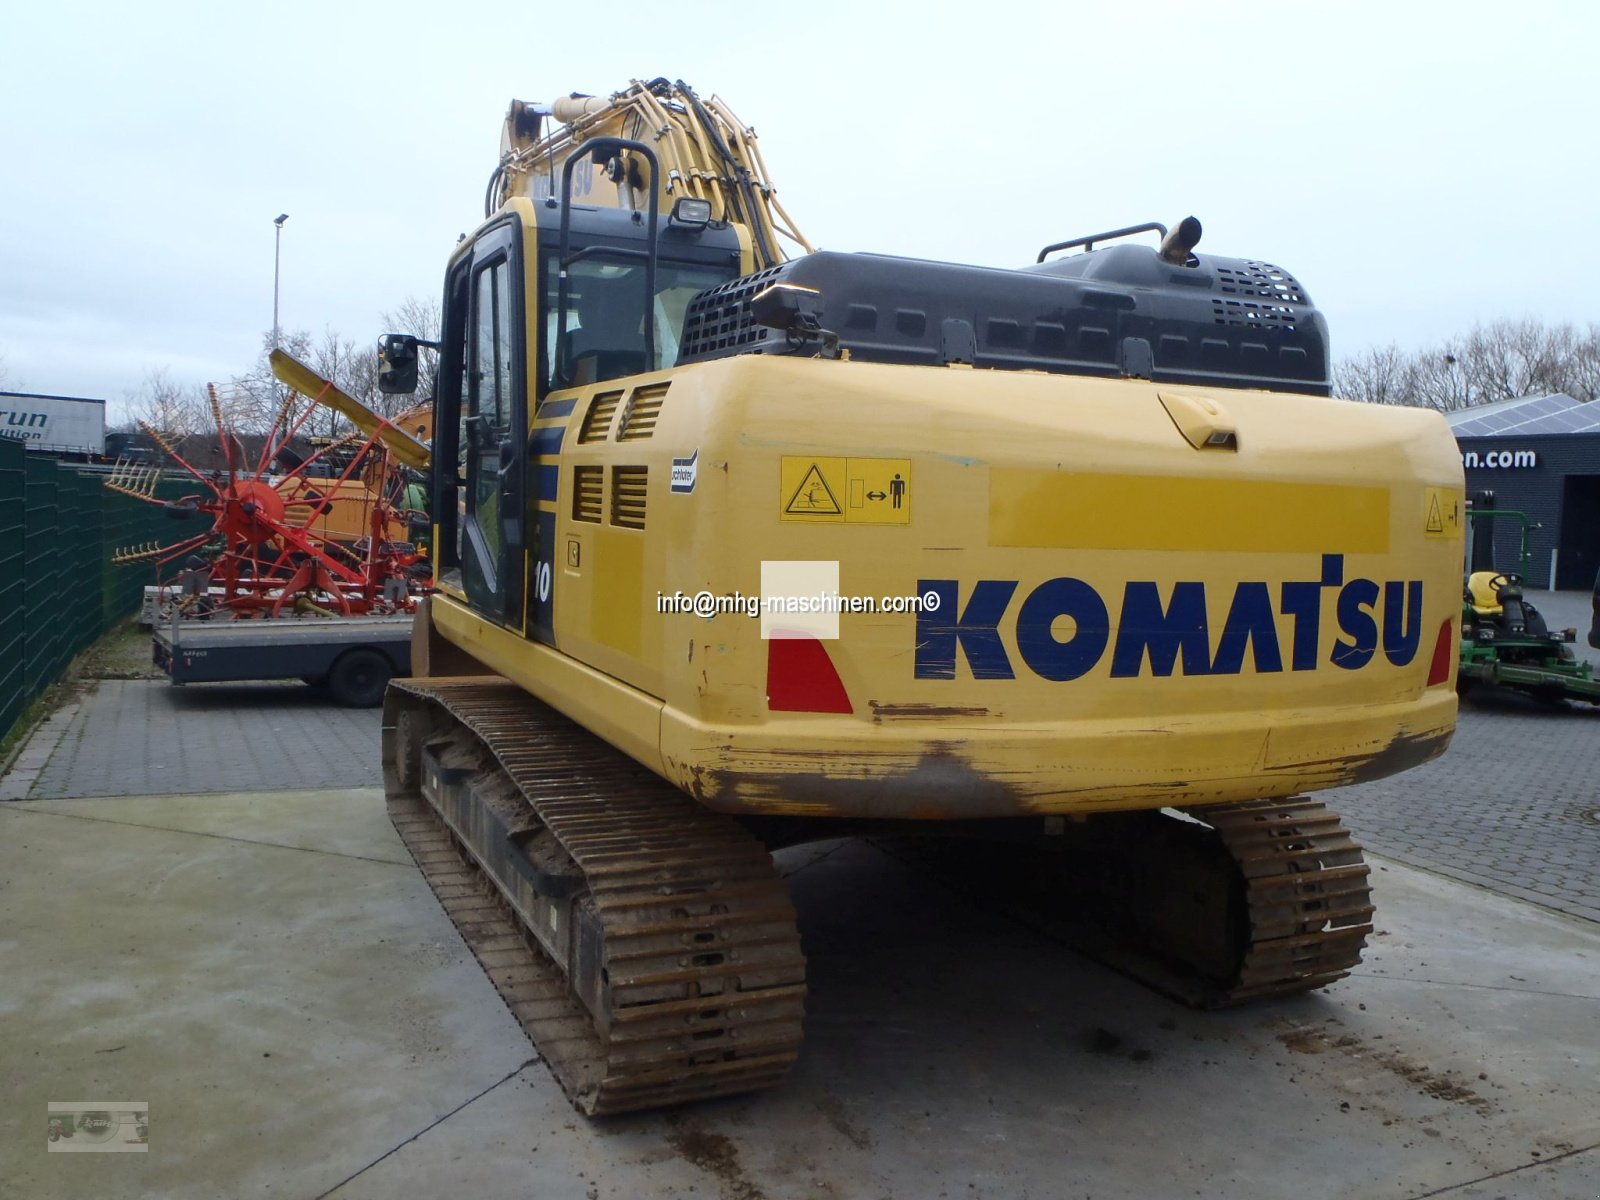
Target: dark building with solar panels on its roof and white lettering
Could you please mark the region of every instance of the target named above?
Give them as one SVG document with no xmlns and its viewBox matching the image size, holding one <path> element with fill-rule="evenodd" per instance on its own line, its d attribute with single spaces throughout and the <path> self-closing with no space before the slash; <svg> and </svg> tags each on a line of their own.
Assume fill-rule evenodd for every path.
<svg viewBox="0 0 1600 1200">
<path fill-rule="evenodd" d="M 1528 395 L 1448 418 L 1474 509 L 1520 512 L 1534 523 L 1531 587 L 1584 589 L 1600 571 L 1600 403 Z M 1474 570 L 1520 570 L 1522 522 L 1474 517 Z"/>
</svg>

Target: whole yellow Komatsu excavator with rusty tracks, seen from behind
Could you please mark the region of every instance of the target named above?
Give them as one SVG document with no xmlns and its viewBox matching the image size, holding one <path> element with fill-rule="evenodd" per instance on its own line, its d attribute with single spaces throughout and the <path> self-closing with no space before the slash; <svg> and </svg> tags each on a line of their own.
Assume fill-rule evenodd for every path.
<svg viewBox="0 0 1600 1200">
<path fill-rule="evenodd" d="M 1299 282 L 1198 237 L 814 251 L 682 82 L 512 102 L 445 275 L 384 776 L 582 1112 L 784 1078 L 771 851 L 819 838 L 1198 1006 L 1358 962 L 1368 869 L 1309 794 L 1454 731 L 1461 459 L 1330 398 Z M 387 336 L 382 387 L 416 374 Z"/>
</svg>

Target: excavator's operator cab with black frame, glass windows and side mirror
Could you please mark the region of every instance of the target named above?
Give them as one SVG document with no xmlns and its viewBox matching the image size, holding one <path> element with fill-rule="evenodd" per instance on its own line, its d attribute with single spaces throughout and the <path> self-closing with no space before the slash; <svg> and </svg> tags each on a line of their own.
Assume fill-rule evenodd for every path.
<svg viewBox="0 0 1600 1200">
<path fill-rule="evenodd" d="M 638 142 L 594 147 L 654 170 Z M 530 435 L 539 406 L 570 387 L 674 366 L 690 302 L 744 269 L 731 224 L 683 205 L 664 213 L 653 189 L 640 189 L 648 213 L 574 202 L 571 182 L 566 171 L 562 200 L 502 208 L 458 248 L 434 389 L 435 578 L 477 614 L 546 642 L 549 574 L 542 587 L 525 578 L 530 550 L 546 571 L 554 557 L 554 520 L 539 506 L 554 501 L 544 490 L 557 467 Z M 400 376 L 408 349 L 386 339 Z"/>
</svg>

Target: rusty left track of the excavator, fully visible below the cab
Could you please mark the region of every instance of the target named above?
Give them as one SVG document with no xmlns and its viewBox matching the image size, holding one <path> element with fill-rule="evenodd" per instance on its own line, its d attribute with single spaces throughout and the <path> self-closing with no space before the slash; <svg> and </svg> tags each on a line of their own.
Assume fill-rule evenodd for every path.
<svg viewBox="0 0 1600 1200">
<path fill-rule="evenodd" d="M 499 678 L 397 680 L 389 813 L 587 1115 L 782 1083 L 805 958 L 766 850 Z"/>
</svg>

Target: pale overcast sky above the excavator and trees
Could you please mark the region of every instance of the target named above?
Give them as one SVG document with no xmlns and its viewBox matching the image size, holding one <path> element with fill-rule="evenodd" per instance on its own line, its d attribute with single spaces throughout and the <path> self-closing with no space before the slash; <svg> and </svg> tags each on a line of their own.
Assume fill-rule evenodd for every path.
<svg viewBox="0 0 1600 1200">
<path fill-rule="evenodd" d="M 1592 3 L 66 0 L 3 30 L 11 390 L 242 373 L 278 213 L 283 326 L 374 339 L 482 216 L 507 99 L 656 75 L 755 126 L 829 250 L 1019 266 L 1194 213 L 1336 357 L 1600 320 Z"/>
</svg>

